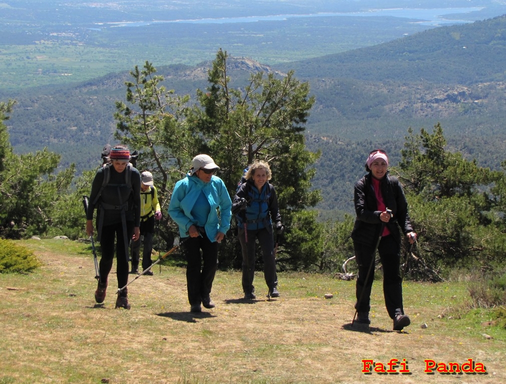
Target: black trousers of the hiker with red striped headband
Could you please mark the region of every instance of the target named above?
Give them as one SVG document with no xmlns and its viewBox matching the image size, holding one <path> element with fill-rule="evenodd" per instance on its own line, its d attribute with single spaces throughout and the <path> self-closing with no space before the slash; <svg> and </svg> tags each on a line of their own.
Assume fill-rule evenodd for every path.
<svg viewBox="0 0 506 384">
<path fill-rule="evenodd" d="M 100 236 L 100 249 L 102 252 L 99 263 L 100 278 L 103 282 L 107 281 L 107 276 L 109 276 L 114 260 L 114 243 L 116 243 L 116 277 L 118 288 L 126 285 L 129 274 L 128 249 L 125 250 L 124 235 L 121 223 L 102 226 L 102 234 Z M 134 222 L 127 221 L 126 238 L 129 244 L 133 235 Z"/>
</svg>

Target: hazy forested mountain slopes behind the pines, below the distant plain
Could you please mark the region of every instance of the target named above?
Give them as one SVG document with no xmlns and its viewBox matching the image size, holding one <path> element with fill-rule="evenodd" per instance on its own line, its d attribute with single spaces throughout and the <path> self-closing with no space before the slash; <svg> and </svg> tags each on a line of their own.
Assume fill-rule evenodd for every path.
<svg viewBox="0 0 506 384">
<path fill-rule="evenodd" d="M 295 69 L 316 97 L 307 146 L 322 151 L 313 186 L 323 191 L 318 206 L 326 211 L 323 217 L 335 217 L 331 210 L 351 212 L 353 183 L 364 172 L 365 156 L 381 147 L 395 165 L 410 126 L 431 131 L 441 122 L 449 149 L 499 167 L 506 153 L 505 30 L 506 18 L 498 17 L 272 69 Z M 233 48 L 224 49 L 234 55 Z M 205 86 L 208 68 L 203 63 L 158 67 L 158 72 L 168 89 L 193 95 Z M 234 70 L 241 74 L 234 79 L 245 79 L 269 68 L 236 60 Z M 71 162 L 79 171 L 94 168 L 103 145 L 112 140 L 114 102 L 124 100 L 127 78 L 128 73 L 110 74 L 78 86 L 1 94 L 18 101 L 8 121 L 15 150 L 47 146 L 62 154 L 62 168 Z"/>
</svg>

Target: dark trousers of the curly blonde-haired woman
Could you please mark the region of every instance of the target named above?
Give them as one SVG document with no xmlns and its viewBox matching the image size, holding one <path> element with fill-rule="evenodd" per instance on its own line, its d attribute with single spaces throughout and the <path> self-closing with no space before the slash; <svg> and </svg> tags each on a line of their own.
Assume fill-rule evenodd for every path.
<svg viewBox="0 0 506 384">
<path fill-rule="evenodd" d="M 276 260 L 274 258 L 274 238 L 267 228 L 247 230 L 248 241 L 244 228 L 239 228 L 237 235 L 242 249 L 242 290 L 249 294 L 255 290 L 253 279 L 255 278 L 256 243 L 257 239 L 262 249 L 264 260 L 264 278 L 267 286 L 272 288 L 278 285 L 276 274 Z"/>
</svg>

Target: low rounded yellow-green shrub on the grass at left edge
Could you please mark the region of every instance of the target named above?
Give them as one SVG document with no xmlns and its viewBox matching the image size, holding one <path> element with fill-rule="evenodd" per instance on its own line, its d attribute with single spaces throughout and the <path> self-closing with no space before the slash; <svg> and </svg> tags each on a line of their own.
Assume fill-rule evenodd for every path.
<svg viewBox="0 0 506 384">
<path fill-rule="evenodd" d="M 40 265 L 32 251 L 0 238 L 0 273 L 27 273 Z"/>
</svg>

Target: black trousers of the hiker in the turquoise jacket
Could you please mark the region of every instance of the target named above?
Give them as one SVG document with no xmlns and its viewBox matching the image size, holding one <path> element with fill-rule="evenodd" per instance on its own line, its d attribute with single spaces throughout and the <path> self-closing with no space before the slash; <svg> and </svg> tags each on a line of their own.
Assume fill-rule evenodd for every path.
<svg viewBox="0 0 506 384">
<path fill-rule="evenodd" d="M 190 305 L 198 305 L 209 297 L 218 269 L 218 243 L 205 233 L 189 237 L 183 243 L 186 256 L 186 284 Z M 202 255 L 200 251 L 202 250 Z"/>
</svg>

